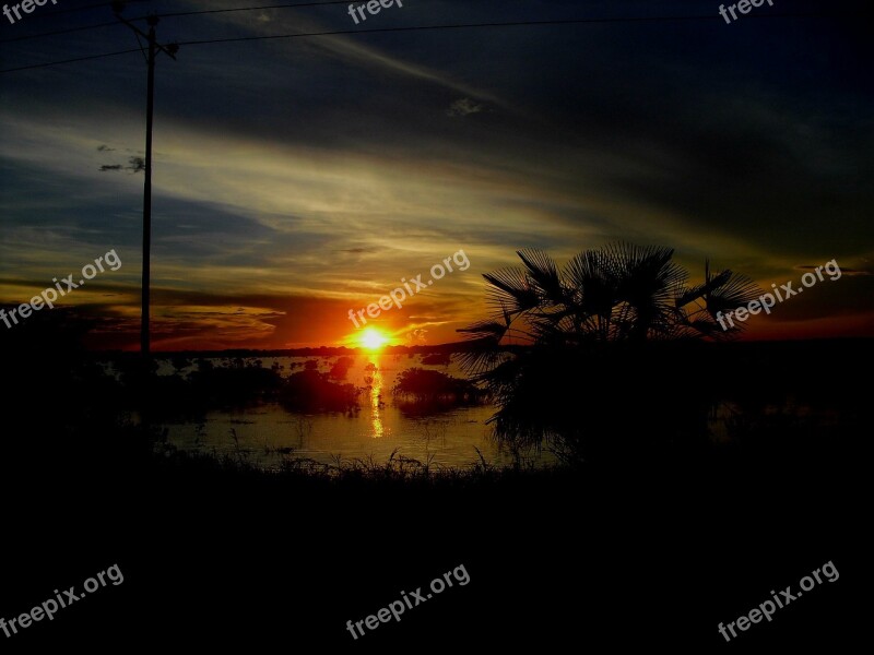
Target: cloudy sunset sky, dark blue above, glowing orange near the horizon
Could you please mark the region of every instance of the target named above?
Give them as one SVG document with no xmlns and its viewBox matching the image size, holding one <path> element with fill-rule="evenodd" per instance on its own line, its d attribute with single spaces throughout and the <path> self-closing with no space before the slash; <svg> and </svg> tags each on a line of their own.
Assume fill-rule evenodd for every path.
<svg viewBox="0 0 874 655">
<path fill-rule="evenodd" d="M 0 16 L 0 69 L 137 47 L 120 24 L 19 38 L 114 21 L 70 11 L 92 4 Z M 487 311 L 482 274 L 516 250 L 564 263 L 616 240 L 766 288 L 836 259 L 839 281 L 746 338 L 874 336 L 861 1 L 777 0 L 731 25 L 700 0 L 404 0 L 359 25 L 349 4 L 162 19 L 158 39 L 184 45 L 156 73 L 153 348 L 353 344 L 350 309 L 463 250 L 466 271 L 368 319 L 394 343 L 456 341 Z M 784 16 L 810 12 L 829 17 Z M 711 17 L 354 34 L 659 16 Z M 353 33 L 185 45 L 334 31 Z M 115 249 L 122 266 L 63 300 L 101 318 L 102 347 L 139 338 L 143 175 L 125 167 L 143 153 L 145 72 L 133 52 L 0 74 L 0 303 Z"/>
</svg>

